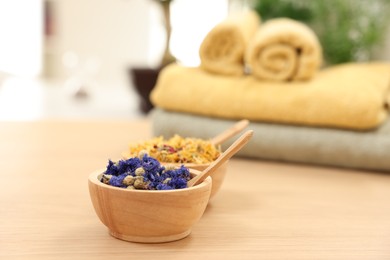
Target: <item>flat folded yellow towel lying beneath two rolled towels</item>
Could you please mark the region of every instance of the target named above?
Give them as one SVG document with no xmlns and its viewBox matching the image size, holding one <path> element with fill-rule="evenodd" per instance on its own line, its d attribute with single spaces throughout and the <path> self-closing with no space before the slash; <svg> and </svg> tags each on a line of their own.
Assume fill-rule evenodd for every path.
<svg viewBox="0 0 390 260">
<path fill-rule="evenodd" d="M 349 63 L 310 81 L 228 77 L 171 64 L 151 93 L 156 107 L 226 119 L 370 129 L 387 116 L 390 63 Z"/>
</svg>

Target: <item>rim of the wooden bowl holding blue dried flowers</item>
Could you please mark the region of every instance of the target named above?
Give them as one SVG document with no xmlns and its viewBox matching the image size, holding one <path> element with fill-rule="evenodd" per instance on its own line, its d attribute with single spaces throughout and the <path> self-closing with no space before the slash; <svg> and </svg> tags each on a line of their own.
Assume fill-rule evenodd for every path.
<svg viewBox="0 0 390 260">
<path fill-rule="evenodd" d="M 193 173 L 193 174 L 199 174 L 199 172 L 200 172 L 200 171 L 194 170 L 194 169 L 189 169 L 189 170 L 190 170 L 190 173 Z M 183 192 L 187 192 L 187 191 L 191 191 L 191 190 L 195 190 L 195 189 L 200 189 L 200 188 L 203 188 L 204 186 L 210 186 L 210 190 L 211 190 L 211 185 L 212 185 L 212 178 L 210 176 L 208 176 L 202 183 L 195 185 L 195 186 L 192 186 L 192 187 L 183 188 L 183 189 L 174 189 L 174 190 L 137 190 L 137 189 L 134 189 L 134 190 L 131 190 L 131 189 L 125 189 L 125 188 L 111 186 L 111 185 L 108 185 L 108 184 L 101 182 L 99 180 L 99 175 L 103 175 L 104 172 L 105 172 L 104 169 L 95 170 L 94 172 L 89 174 L 88 181 L 103 188 L 103 189 L 113 189 L 113 190 L 123 191 L 123 192 L 148 193 L 148 194 L 150 194 L 150 193 L 173 193 L 173 192 L 175 192 L 175 193 L 182 192 L 183 193 Z"/>
</svg>

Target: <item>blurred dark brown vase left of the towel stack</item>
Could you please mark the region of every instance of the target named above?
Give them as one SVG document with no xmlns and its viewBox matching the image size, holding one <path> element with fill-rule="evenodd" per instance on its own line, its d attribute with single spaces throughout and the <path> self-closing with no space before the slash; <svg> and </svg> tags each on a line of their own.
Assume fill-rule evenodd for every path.
<svg viewBox="0 0 390 260">
<path fill-rule="evenodd" d="M 156 85 L 158 74 L 161 68 L 131 68 L 130 77 L 137 94 L 140 97 L 139 108 L 143 113 L 148 113 L 153 104 L 150 102 L 149 95 Z"/>
</svg>

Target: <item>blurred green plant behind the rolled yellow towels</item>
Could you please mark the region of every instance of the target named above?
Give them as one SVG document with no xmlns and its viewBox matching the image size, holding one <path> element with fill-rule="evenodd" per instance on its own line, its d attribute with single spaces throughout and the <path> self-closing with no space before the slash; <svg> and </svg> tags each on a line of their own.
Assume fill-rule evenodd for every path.
<svg viewBox="0 0 390 260">
<path fill-rule="evenodd" d="M 322 44 L 325 62 L 373 59 L 388 29 L 388 0 L 255 0 L 263 21 L 289 17 L 310 26 Z"/>
</svg>

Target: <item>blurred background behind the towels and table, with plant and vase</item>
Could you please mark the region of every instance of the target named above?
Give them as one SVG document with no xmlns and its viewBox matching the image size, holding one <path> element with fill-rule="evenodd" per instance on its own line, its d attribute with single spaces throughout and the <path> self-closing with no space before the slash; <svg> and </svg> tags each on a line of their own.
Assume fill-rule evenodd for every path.
<svg viewBox="0 0 390 260">
<path fill-rule="evenodd" d="M 150 89 L 141 92 L 158 71 L 197 66 L 207 32 L 249 8 L 309 24 L 328 46 L 325 66 L 390 60 L 388 2 L 0 0 L 0 120 L 144 117 Z"/>
</svg>

